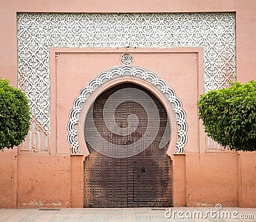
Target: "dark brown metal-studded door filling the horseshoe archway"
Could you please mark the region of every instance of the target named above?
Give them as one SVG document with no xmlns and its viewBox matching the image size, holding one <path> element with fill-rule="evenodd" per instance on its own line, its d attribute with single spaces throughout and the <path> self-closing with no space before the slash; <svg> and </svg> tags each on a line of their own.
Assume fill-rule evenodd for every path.
<svg viewBox="0 0 256 222">
<path fill-rule="evenodd" d="M 166 110 L 152 93 L 131 83 L 104 91 L 84 125 L 84 207 L 171 206 L 166 135 Z"/>
</svg>

